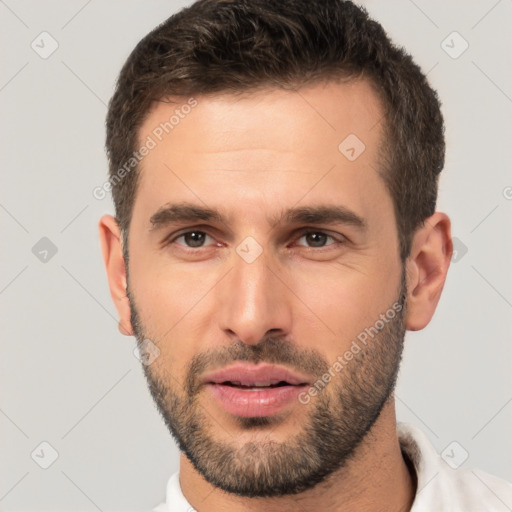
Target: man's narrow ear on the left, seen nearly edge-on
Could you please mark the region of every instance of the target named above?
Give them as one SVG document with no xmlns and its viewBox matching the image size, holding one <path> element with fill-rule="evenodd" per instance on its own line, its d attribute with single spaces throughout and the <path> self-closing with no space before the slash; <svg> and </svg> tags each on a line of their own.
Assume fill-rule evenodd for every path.
<svg viewBox="0 0 512 512">
<path fill-rule="evenodd" d="M 111 215 L 104 215 L 100 219 L 98 227 L 110 295 L 119 314 L 119 331 L 126 336 L 133 336 L 130 321 L 130 302 L 126 295 L 126 266 L 123 257 L 121 230 Z"/>
</svg>

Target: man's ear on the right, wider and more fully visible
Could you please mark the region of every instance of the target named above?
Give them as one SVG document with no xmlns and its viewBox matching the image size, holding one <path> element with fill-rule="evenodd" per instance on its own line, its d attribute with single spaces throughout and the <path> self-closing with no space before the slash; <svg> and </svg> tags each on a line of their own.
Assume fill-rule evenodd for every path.
<svg viewBox="0 0 512 512">
<path fill-rule="evenodd" d="M 443 291 L 453 253 L 451 223 L 436 212 L 414 234 L 407 258 L 406 328 L 419 331 L 428 325 Z"/>
</svg>

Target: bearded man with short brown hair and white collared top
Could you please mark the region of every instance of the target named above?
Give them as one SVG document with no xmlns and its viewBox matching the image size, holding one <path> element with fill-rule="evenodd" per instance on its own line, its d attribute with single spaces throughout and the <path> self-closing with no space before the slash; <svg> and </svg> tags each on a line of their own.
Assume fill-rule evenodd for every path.
<svg viewBox="0 0 512 512">
<path fill-rule="evenodd" d="M 107 150 L 119 326 L 182 452 L 156 510 L 506 510 L 396 421 L 453 250 L 443 120 L 363 9 L 196 2 L 128 58 Z"/>
</svg>

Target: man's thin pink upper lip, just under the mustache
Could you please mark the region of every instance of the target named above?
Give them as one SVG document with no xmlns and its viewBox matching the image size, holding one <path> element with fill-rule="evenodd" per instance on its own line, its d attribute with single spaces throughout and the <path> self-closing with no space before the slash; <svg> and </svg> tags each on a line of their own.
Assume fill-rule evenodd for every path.
<svg viewBox="0 0 512 512">
<path fill-rule="evenodd" d="M 233 364 L 221 370 L 208 373 L 202 379 L 203 384 L 236 382 L 243 386 L 253 386 L 257 383 L 277 384 L 282 381 L 292 385 L 300 385 L 308 384 L 309 379 L 283 366 L 247 363 Z"/>
</svg>

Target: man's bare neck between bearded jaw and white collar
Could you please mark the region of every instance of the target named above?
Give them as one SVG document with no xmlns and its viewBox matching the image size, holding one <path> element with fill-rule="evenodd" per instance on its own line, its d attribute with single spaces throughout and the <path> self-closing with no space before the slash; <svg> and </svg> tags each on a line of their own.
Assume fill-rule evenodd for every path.
<svg viewBox="0 0 512 512">
<path fill-rule="evenodd" d="M 198 512 L 408 512 L 416 494 L 415 478 L 398 443 L 393 395 L 351 460 L 300 494 L 277 498 L 230 495 L 208 483 L 183 454 L 180 459 L 182 492 Z"/>
</svg>

